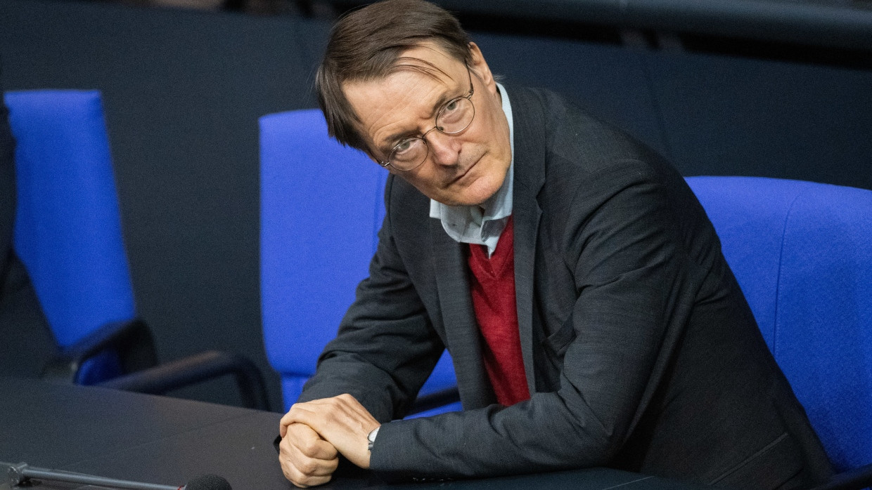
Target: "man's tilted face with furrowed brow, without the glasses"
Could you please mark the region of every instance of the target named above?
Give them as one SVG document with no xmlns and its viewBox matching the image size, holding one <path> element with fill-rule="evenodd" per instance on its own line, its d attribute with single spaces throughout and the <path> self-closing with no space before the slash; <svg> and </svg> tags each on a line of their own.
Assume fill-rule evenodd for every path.
<svg viewBox="0 0 872 490">
<path fill-rule="evenodd" d="M 499 91 L 478 46 L 471 44 L 471 48 L 473 122 L 453 135 L 428 132 L 429 151 L 417 168 L 398 171 L 387 167 L 428 198 L 446 205 L 486 201 L 500 189 L 512 158 Z M 443 104 L 469 93 L 467 67 L 436 44 L 422 44 L 402 57 L 404 64 L 430 68 L 429 73 L 403 69 L 381 79 L 344 85 L 345 97 L 361 119 L 359 131 L 369 142 L 371 158 L 377 161 L 387 160 L 401 139 L 432 129 Z"/>
</svg>

